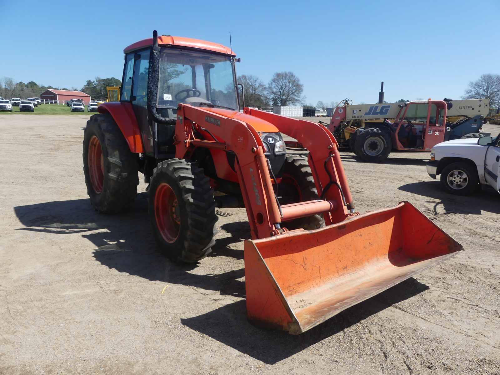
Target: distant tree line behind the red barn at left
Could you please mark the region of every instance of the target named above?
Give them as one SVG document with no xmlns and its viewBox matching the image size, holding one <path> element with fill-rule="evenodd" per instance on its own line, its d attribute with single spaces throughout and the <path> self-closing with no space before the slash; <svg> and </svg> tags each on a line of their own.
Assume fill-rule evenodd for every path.
<svg viewBox="0 0 500 375">
<path fill-rule="evenodd" d="M 94 80 L 88 79 L 85 85 L 81 88 L 77 87 L 54 87 L 39 85 L 34 81 L 29 81 L 24 83 L 14 82 L 10 77 L 3 77 L 0 79 L 0 96 L 5 98 L 11 97 L 40 97 L 40 94 L 47 89 L 55 90 L 71 90 L 71 91 L 83 91 L 84 93 L 90 95 L 92 99 L 104 100 L 107 96 L 106 87 L 107 86 L 119 86 L 121 81 L 117 78 L 99 78 L 95 77 Z"/>
</svg>

